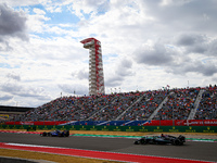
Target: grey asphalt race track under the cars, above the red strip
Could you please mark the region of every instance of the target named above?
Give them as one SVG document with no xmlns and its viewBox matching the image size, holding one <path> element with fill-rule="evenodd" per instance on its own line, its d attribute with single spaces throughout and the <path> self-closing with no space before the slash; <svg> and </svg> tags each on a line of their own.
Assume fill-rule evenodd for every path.
<svg viewBox="0 0 217 163">
<path fill-rule="evenodd" d="M 40 145 L 142 155 L 217 162 L 217 142 L 187 141 L 183 146 L 133 145 L 135 139 L 99 137 L 40 137 L 29 134 L 0 133 L 0 142 Z"/>
</svg>

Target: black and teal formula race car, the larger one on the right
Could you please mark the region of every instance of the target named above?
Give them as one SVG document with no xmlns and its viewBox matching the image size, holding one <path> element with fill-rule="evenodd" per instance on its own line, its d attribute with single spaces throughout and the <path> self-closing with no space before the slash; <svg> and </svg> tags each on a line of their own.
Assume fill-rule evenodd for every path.
<svg viewBox="0 0 217 163">
<path fill-rule="evenodd" d="M 184 136 L 179 136 L 179 137 L 174 137 L 170 135 L 161 135 L 161 136 L 151 136 L 151 137 L 142 137 L 138 140 L 135 141 L 135 145 L 146 145 L 146 143 L 151 143 L 151 145 L 166 145 L 166 143 L 170 143 L 170 145 L 175 145 L 175 146 L 181 146 L 183 145 L 183 142 L 186 142 L 186 137 Z"/>
</svg>

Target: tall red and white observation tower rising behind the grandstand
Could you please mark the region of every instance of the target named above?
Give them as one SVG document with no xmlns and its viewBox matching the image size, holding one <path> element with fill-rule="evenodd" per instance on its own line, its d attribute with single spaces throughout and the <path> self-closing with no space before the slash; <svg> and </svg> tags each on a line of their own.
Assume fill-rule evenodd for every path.
<svg viewBox="0 0 217 163">
<path fill-rule="evenodd" d="M 95 38 L 87 38 L 80 42 L 84 48 L 89 49 L 89 95 L 105 93 L 101 42 Z"/>
</svg>

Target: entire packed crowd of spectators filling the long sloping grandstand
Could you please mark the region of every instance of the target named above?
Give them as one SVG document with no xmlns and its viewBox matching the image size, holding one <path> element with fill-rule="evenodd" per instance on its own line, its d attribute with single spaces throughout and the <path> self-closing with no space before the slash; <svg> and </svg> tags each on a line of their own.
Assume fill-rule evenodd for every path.
<svg viewBox="0 0 217 163">
<path fill-rule="evenodd" d="M 153 120 L 187 120 L 202 88 L 136 91 L 90 97 L 61 97 L 11 121 L 144 121 L 158 108 Z M 217 118 L 217 87 L 205 92 L 195 118 Z"/>
</svg>

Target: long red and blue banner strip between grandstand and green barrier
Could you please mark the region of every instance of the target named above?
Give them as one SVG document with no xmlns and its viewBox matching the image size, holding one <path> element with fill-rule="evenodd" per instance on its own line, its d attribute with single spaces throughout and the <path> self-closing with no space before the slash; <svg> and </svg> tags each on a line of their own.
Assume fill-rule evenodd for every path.
<svg viewBox="0 0 217 163">
<path fill-rule="evenodd" d="M 94 125 L 94 126 L 217 126 L 217 120 L 164 120 L 164 121 L 44 121 L 5 122 L 5 125 Z"/>
</svg>

